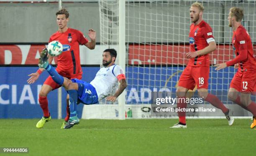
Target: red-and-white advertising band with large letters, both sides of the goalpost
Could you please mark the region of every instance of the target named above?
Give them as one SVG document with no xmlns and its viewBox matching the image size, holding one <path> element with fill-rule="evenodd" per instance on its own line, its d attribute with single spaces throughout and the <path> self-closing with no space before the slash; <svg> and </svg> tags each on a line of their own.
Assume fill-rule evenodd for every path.
<svg viewBox="0 0 256 156">
<path fill-rule="evenodd" d="M 38 64 L 39 52 L 45 47 L 46 45 L 0 45 L 0 64 Z M 129 45 L 128 64 L 187 64 L 188 59 L 184 58 L 186 52 L 189 52 L 189 45 Z M 101 52 L 98 57 L 101 57 Z M 218 45 L 217 50 L 210 54 L 210 63 L 221 63 L 233 57 L 230 45 Z M 84 58 L 81 57 L 81 64 L 95 64 L 95 60 L 84 61 Z M 56 58 L 54 62 L 57 62 Z"/>
</svg>

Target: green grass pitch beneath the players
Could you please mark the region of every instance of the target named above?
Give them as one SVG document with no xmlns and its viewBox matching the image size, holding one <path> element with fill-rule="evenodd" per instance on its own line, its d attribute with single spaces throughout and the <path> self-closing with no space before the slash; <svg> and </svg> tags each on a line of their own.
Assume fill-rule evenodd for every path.
<svg viewBox="0 0 256 156">
<path fill-rule="evenodd" d="M 0 147 L 28 147 L 31 156 L 255 156 L 250 119 L 188 119 L 187 129 L 169 129 L 177 119 L 80 120 L 60 129 L 52 119 L 0 119 Z M 7 155 L 7 154 L 0 154 Z"/>
</svg>

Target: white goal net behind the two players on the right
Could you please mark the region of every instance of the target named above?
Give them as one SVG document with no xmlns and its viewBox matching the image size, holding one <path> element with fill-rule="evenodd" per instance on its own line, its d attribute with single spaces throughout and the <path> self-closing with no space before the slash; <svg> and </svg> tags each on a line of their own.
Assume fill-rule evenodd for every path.
<svg viewBox="0 0 256 156">
<path fill-rule="evenodd" d="M 147 104 L 151 92 L 173 92 L 187 65 L 184 57 L 189 52 L 189 8 L 191 0 L 126 0 L 126 113 L 127 107 L 150 117 Z M 210 53 L 210 78 L 208 92 L 215 94 L 224 104 L 233 104 L 227 98 L 229 84 L 236 69 L 227 67 L 216 71 L 214 64 L 233 59 L 232 29 L 228 27 L 230 7 L 244 10 L 243 26 L 251 36 L 256 49 L 256 1 L 198 0 L 205 7 L 203 20 L 212 27 L 217 49 Z M 118 38 L 118 0 L 100 0 L 101 44 L 115 46 Z M 255 50 L 254 50 L 255 51 Z M 223 94 L 225 96 L 223 96 Z M 255 97 L 252 97 L 255 101 Z M 138 106 L 137 109 L 133 108 Z M 147 107 L 147 108 L 146 108 Z M 150 107 L 150 106 L 149 106 Z M 146 108 L 146 109 L 145 109 Z M 133 114 L 133 116 L 136 116 Z"/>
</svg>

